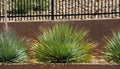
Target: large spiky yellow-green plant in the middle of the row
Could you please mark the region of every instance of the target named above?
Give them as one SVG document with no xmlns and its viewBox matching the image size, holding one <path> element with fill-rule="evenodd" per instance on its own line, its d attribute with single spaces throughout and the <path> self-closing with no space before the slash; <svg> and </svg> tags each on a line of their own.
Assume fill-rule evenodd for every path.
<svg viewBox="0 0 120 69">
<path fill-rule="evenodd" d="M 69 63 L 88 62 L 91 44 L 84 38 L 86 32 L 76 32 L 67 24 L 57 24 L 52 29 L 43 30 L 35 45 L 35 56 L 38 62 Z"/>
</svg>

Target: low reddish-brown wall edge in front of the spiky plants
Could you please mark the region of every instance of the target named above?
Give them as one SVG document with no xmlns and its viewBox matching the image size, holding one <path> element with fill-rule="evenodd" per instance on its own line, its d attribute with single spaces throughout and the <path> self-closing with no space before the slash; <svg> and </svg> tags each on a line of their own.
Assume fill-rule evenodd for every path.
<svg viewBox="0 0 120 69">
<path fill-rule="evenodd" d="M 0 69 L 120 69 L 115 64 L 4 64 Z"/>
</svg>

